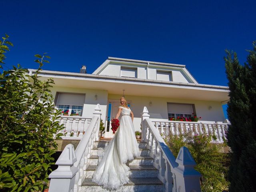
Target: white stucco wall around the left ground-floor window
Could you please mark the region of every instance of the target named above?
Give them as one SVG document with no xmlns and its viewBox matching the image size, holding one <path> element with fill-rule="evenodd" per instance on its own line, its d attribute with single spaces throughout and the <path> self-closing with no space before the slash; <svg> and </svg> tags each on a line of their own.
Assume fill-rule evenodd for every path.
<svg viewBox="0 0 256 192">
<path fill-rule="evenodd" d="M 100 104 L 101 108 L 101 118 L 103 122 L 106 120 L 106 107 L 108 102 L 108 92 L 106 90 L 93 90 L 93 89 L 79 89 L 79 88 L 65 88 L 65 87 L 53 87 L 52 94 L 54 98 L 57 92 L 63 93 L 82 93 L 85 94 L 85 102 L 83 106 L 82 116 L 92 116 L 94 109 L 97 104 Z M 97 100 L 94 99 L 95 94 L 97 94 Z"/>
</svg>

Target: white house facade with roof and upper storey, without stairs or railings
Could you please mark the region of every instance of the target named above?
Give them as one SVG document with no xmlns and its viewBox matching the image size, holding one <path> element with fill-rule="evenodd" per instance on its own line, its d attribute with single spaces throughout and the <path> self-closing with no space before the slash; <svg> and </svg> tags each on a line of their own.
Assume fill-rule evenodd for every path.
<svg viewBox="0 0 256 192">
<path fill-rule="evenodd" d="M 123 95 L 134 113 L 135 130 L 140 130 L 144 106 L 153 119 L 196 115 L 202 122 L 225 121 L 228 87 L 199 84 L 185 65 L 108 57 L 92 74 L 83 66 L 80 73 L 42 70 L 40 76 L 54 79 L 54 103 L 67 121 L 92 116 L 100 104 L 106 138 L 113 136 L 110 121 Z"/>
</svg>

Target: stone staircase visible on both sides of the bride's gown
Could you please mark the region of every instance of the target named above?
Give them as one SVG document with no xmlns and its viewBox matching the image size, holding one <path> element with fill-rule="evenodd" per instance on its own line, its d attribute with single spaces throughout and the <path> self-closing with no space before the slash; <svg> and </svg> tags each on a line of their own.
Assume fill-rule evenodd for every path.
<svg viewBox="0 0 256 192">
<path fill-rule="evenodd" d="M 81 192 L 105 192 L 109 189 L 103 188 L 92 182 L 92 175 L 98 165 L 98 149 L 104 149 L 108 141 L 94 142 L 92 156 L 89 158 L 89 166 L 86 169 L 86 178 L 82 183 Z M 129 183 L 124 184 L 115 192 L 164 192 L 164 184 L 157 178 L 158 170 L 153 166 L 153 159 L 149 156 L 149 150 L 146 143 L 138 142 L 140 156 L 127 162 L 129 170 Z"/>
</svg>

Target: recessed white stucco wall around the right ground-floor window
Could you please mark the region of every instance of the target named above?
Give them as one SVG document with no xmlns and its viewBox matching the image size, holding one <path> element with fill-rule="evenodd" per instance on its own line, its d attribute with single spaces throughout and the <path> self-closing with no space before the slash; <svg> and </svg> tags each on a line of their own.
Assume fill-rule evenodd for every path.
<svg viewBox="0 0 256 192">
<path fill-rule="evenodd" d="M 120 95 L 108 95 L 108 99 L 119 100 Z M 140 130 L 141 112 L 144 106 L 148 108 L 150 118 L 163 118 L 168 119 L 167 103 L 187 103 L 194 104 L 196 109 L 196 115 L 202 117 L 202 121 L 218 121 L 223 122 L 225 120 L 222 105 L 220 102 L 208 102 L 198 100 L 181 100 L 173 98 L 155 98 L 155 97 L 140 97 L 140 96 L 125 96 L 126 100 L 131 101 L 131 110 L 134 113 L 134 128 Z M 149 106 L 149 102 L 152 105 Z M 209 110 L 208 107 L 212 108 Z"/>
</svg>

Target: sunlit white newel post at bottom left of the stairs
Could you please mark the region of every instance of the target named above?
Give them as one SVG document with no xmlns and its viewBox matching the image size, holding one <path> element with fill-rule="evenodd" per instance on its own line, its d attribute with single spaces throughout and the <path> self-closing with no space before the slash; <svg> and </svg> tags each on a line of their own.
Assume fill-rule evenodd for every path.
<svg viewBox="0 0 256 192">
<path fill-rule="evenodd" d="M 74 146 L 68 144 L 56 161 L 58 168 L 49 175 L 51 179 L 49 192 L 74 191 L 76 173 L 78 172 L 78 168 L 74 166 L 74 162 L 76 162 Z"/>
</svg>

